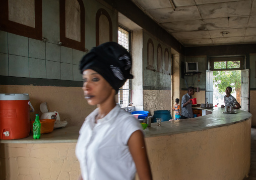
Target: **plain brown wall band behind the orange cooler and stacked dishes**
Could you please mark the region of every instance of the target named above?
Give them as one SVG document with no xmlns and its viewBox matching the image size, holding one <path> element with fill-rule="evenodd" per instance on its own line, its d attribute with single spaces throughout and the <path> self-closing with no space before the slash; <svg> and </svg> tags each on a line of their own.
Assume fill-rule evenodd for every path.
<svg viewBox="0 0 256 180">
<path fill-rule="evenodd" d="M 67 120 L 68 126 L 81 126 L 96 106 L 88 105 L 81 87 L 54 86 L 15 86 L 1 85 L 0 93 L 27 93 L 35 109 L 30 113 L 30 120 L 35 114 L 41 116 L 40 104 L 47 102 L 49 111 L 57 111 L 60 120 Z"/>
</svg>

